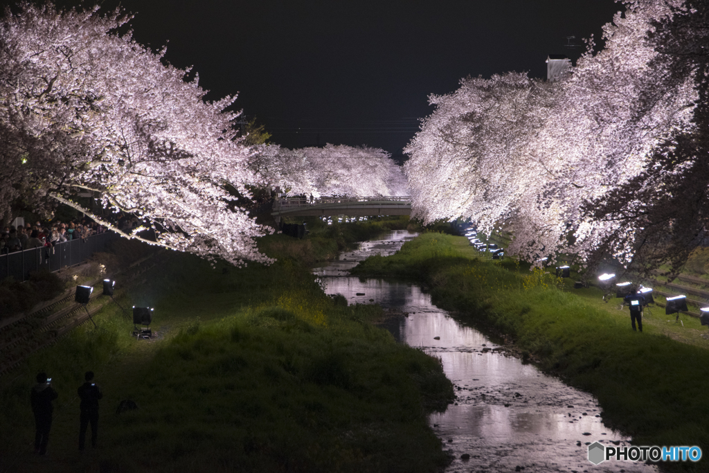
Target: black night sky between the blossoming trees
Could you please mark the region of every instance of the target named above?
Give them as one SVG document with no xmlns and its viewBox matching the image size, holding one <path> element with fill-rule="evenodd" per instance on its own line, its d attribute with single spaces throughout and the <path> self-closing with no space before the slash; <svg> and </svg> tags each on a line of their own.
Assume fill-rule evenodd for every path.
<svg viewBox="0 0 709 473">
<path fill-rule="evenodd" d="M 7 0 L 6 0 L 7 1 Z M 60 5 L 76 4 L 59 0 Z M 104 7 L 118 4 L 105 0 Z M 121 0 L 135 38 L 169 40 L 167 60 L 193 65 L 210 99 L 238 93 L 288 148 L 369 145 L 402 157 L 429 94 L 467 75 L 545 77 L 549 53 L 613 18 L 613 0 Z"/>
</svg>

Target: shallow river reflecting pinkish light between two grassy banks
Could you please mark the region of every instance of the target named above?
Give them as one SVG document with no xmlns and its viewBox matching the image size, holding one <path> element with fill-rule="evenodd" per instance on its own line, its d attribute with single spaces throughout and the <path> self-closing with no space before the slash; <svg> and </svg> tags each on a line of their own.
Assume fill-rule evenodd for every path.
<svg viewBox="0 0 709 473">
<path fill-rule="evenodd" d="M 348 276 L 357 262 L 377 253 L 391 255 L 414 237 L 406 230 L 393 232 L 313 272 L 323 279 L 328 294 L 342 294 L 350 303 L 374 299 L 384 308 L 408 313 L 386 328 L 397 340 L 443 360 L 457 400 L 445 413 L 430 416 L 430 423 L 454 455 L 447 472 L 658 471 L 636 462 L 588 462 L 586 445 L 596 440 L 630 445 L 627 437 L 603 425 L 593 396 L 506 355 L 501 345 L 432 305 L 415 284 L 361 282 Z M 462 460 L 463 454 L 470 455 L 469 460 Z"/>
</svg>

